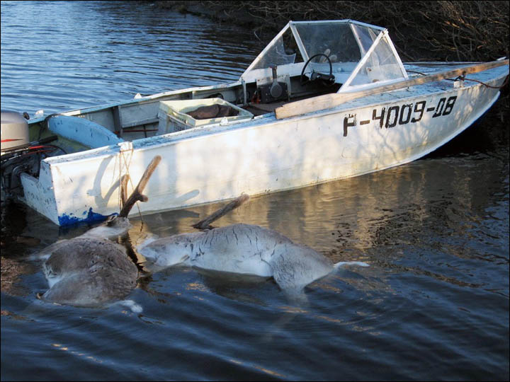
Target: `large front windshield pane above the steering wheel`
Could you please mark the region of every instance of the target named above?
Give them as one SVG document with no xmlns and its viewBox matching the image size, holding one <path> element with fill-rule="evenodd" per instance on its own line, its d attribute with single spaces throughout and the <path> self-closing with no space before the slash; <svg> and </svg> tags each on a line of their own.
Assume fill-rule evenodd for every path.
<svg viewBox="0 0 510 382">
<path fill-rule="evenodd" d="M 295 24 L 308 57 L 318 53 L 329 56 L 331 62 L 358 62 L 361 52 L 348 23 Z M 316 57 L 312 62 L 324 62 Z"/>
</svg>

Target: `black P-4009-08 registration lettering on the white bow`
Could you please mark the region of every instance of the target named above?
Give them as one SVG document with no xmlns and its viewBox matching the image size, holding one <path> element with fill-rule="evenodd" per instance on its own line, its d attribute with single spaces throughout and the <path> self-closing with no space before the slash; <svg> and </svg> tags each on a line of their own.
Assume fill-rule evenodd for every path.
<svg viewBox="0 0 510 382">
<path fill-rule="evenodd" d="M 381 108 L 372 110 L 371 120 L 362 120 L 360 125 L 368 125 L 372 121 L 379 121 L 379 127 L 386 127 L 390 129 L 397 125 L 407 125 L 409 122 L 416 123 L 421 120 L 425 112 L 434 112 L 432 117 L 441 117 L 448 115 L 453 110 L 457 96 L 450 98 L 443 97 L 439 100 L 436 106 L 426 108 L 426 101 L 421 100 L 414 104 L 409 103 L 406 105 L 395 105 L 390 108 Z M 348 114 L 344 117 L 344 137 L 347 137 L 348 127 L 356 127 L 357 118 L 356 114 Z"/>
</svg>

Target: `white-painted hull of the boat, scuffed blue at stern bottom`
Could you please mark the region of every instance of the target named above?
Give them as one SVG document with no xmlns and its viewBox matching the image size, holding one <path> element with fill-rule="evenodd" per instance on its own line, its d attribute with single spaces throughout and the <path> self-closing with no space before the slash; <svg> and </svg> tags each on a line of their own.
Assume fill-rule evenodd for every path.
<svg viewBox="0 0 510 382">
<path fill-rule="evenodd" d="M 479 77 L 498 86 L 505 70 Z M 479 83 L 439 81 L 283 120 L 271 113 L 47 158 L 38 179 L 21 175 L 23 202 L 60 226 L 104 219 L 119 211 L 120 176 L 136 182 L 156 155 L 142 214 L 350 178 L 428 154 L 498 97 Z"/>
</svg>

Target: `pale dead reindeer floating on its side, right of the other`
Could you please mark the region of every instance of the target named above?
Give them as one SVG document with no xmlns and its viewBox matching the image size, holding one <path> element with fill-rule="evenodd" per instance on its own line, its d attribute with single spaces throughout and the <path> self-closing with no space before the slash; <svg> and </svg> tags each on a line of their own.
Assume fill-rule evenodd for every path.
<svg viewBox="0 0 510 382">
<path fill-rule="evenodd" d="M 215 219 L 248 199 L 242 195 L 228 206 L 195 224 L 206 228 Z M 201 232 L 145 241 L 137 248 L 149 269 L 188 265 L 205 270 L 273 277 L 292 299 L 305 299 L 303 289 L 342 265 L 368 266 L 364 262 L 337 262 L 272 229 L 251 224 L 233 224 Z"/>
</svg>

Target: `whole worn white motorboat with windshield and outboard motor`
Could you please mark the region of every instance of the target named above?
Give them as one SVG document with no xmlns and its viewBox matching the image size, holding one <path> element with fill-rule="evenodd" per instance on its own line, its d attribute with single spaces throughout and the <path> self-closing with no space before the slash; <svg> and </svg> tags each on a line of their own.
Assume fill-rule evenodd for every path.
<svg viewBox="0 0 510 382">
<path fill-rule="evenodd" d="M 504 58 L 403 63 L 375 25 L 290 21 L 232 83 L 33 117 L 2 110 L 2 194 L 66 226 L 118 212 L 120 179 L 154 156 L 149 201 L 132 214 L 351 178 L 446 144 L 508 75 Z"/>
</svg>

